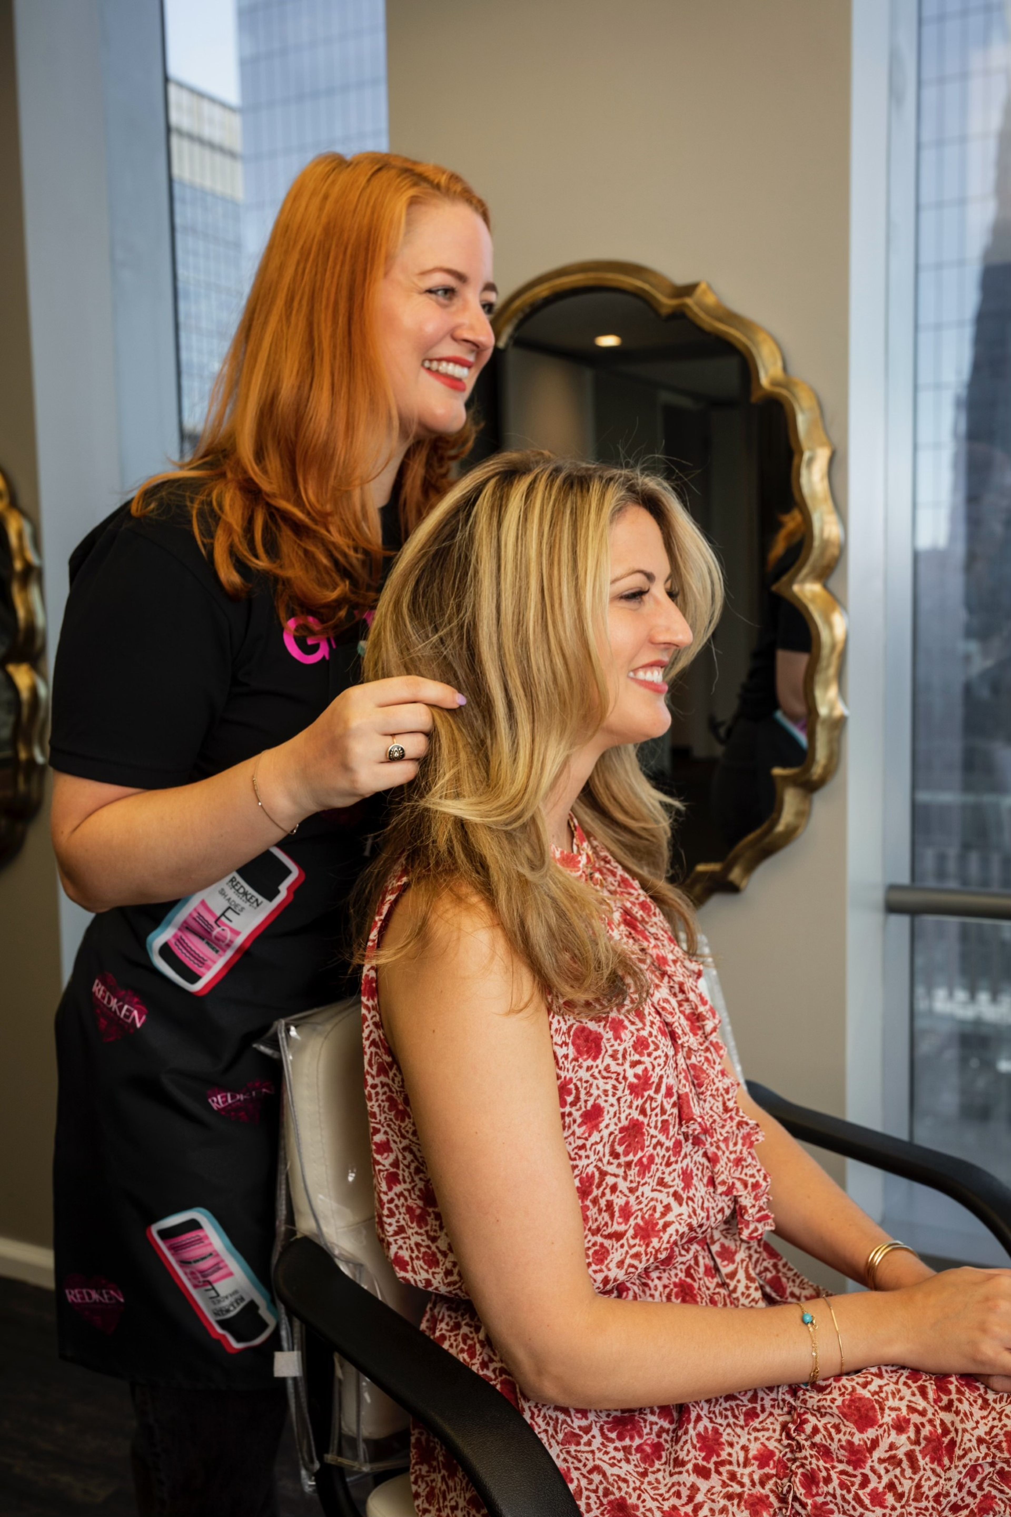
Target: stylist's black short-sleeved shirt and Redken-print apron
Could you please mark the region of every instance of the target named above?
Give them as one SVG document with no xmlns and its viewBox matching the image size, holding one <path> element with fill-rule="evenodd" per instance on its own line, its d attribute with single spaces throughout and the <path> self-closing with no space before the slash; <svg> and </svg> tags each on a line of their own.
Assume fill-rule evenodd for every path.
<svg viewBox="0 0 1011 1517">
<path fill-rule="evenodd" d="M 397 507 L 382 514 L 396 548 Z M 50 762 L 147 790 L 218 774 L 356 683 L 364 636 L 361 619 L 333 637 L 282 627 L 265 584 L 229 598 L 167 488 L 71 560 Z M 279 1079 L 255 1044 L 352 989 L 347 898 L 380 825 L 382 798 L 308 818 L 182 901 L 88 927 L 58 1013 L 65 1358 L 147 1384 L 273 1384 Z"/>
</svg>

